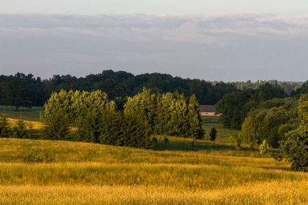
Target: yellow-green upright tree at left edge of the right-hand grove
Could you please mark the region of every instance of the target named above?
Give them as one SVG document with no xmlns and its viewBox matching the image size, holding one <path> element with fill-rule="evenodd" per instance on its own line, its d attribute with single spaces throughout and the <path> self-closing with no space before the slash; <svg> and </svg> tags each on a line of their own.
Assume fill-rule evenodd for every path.
<svg viewBox="0 0 308 205">
<path fill-rule="evenodd" d="M 245 118 L 244 123 L 242 124 L 242 131 L 238 133 L 238 138 L 246 146 L 253 147 L 257 145 L 257 133 L 255 131 L 255 125 L 251 116 Z"/>
</svg>

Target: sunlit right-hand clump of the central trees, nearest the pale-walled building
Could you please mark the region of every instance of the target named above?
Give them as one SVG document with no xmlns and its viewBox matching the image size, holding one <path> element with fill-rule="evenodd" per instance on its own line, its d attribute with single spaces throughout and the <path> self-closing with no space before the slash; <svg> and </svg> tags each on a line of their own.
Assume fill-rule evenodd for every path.
<svg viewBox="0 0 308 205">
<path fill-rule="evenodd" d="M 125 115 L 138 115 L 155 135 L 177 135 L 202 139 L 201 117 L 196 96 L 189 100 L 183 94 L 151 94 L 144 89 L 142 93 L 127 98 Z"/>
</svg>

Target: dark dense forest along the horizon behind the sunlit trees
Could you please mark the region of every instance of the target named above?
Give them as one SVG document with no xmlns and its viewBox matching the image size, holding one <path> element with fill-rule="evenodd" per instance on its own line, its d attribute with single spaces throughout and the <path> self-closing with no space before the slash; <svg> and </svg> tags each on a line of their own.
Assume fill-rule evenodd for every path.
<svg viewBox="0 0 308 205">
<path fill-rule="evenodd" d="M 33 74 L 16 73 L 14 76 L 0 76 L 0 104 L 16 107 L 43 106 L 53 92 L 73 90 L 92 92 L 101 90 L 110 100 L 115 100 L 119 106 L 124 105 L 127 96 L 135 96 L 143 88 L 151 89 L 152 93 L 179 92 L 185 96 L 194 94 L 200 105 L 215 105 L 222 96 L 241 90 L 257 90 L 259 87 L 272 85 L 281 90 L 285 96 L 300 96 L 307 93 L 308 84 L 257 81 L 252 83 L 222 81 L 205 81 L 201 79 L 182 79 L 170 74 L 146 73 L 134 75 L 125 71 L 104 70 L 99 74 L 89 74 L 86 77 L 53 75 L 49 79 L 34 77 Z M 18 96 L 18 99 L 16 99 Z"/>
</svg>

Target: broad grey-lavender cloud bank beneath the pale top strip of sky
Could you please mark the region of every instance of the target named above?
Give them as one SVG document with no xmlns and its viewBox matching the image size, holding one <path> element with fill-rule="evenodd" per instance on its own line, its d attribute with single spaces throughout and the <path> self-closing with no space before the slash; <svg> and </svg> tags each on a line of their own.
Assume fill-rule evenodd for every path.
<svg viewBox="0 0 308 205">
<path fill-rule="evenodd" d="M 305 81 L 307 28 L 307 16 L 272 14 L 0 14 L 1 71 Z"/>
</svg>

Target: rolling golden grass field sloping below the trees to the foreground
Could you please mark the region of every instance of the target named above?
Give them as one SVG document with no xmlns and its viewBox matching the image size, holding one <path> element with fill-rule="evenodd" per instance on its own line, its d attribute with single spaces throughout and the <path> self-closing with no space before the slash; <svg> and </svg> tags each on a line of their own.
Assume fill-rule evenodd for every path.
<svg viewBox="0 0 308 205">
<path fill-rule="evenodd" d="M 157 136 L 153 150 L 2 138 L 0 204 L 308 204 L 308 174 L 235 150 L 218 119 L 203 118 L 214 142 Z"/>
</svg>

